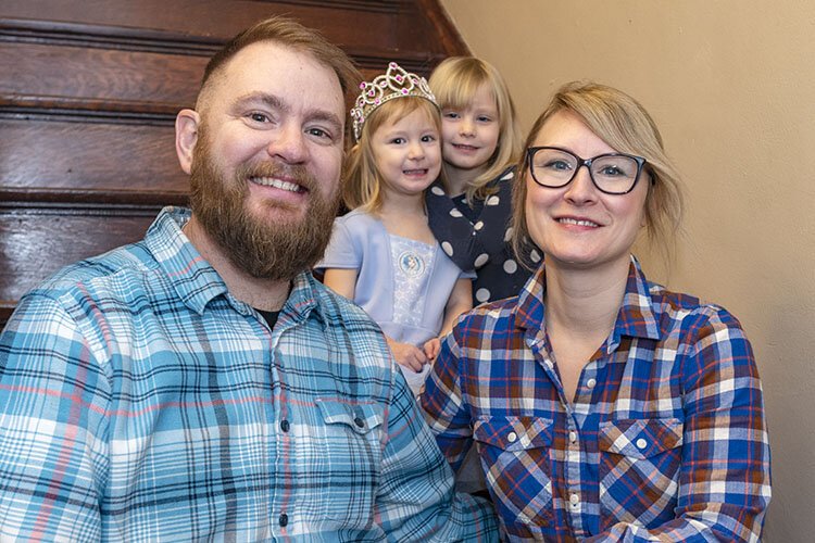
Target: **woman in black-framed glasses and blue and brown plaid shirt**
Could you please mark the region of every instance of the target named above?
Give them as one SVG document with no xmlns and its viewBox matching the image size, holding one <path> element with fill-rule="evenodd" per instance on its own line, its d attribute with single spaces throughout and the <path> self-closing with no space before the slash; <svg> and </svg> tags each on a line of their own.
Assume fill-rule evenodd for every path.
<svg viewBox="0 0 815 543">
<path fill-rule="evenodd" d="M 439 446 L 457 468 L 476 441 L 511 541 L 757 541 L 769 447 L 750 343 L 630 254 L 643 226 L 663 248 L 678 227 L 656 126 L 570 84 L 526 149 L 513 242 L 546 260 L 443 343 L 422 397 Z"/>
</svg>

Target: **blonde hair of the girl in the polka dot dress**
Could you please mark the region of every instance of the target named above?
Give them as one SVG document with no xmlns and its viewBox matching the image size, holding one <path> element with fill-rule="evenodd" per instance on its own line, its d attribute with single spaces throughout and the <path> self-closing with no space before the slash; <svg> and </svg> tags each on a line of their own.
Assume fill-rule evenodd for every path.
<svg viewBox="0 0 815 543">
<path fill-rule="evenodd" d="M 515 118 L 515 104 L 510 89 L 496 67 L 474 56 L 446 59 L 430 75 L 430 90 L 443 112 L 446 109 L 463 110 L 473 101 L 482 85 L 487 85 L 498 106 L 499 137 L 489 167 L 479 175 L 465 192 L 467 201 L 486 199 L 496 190 L 487 185 L 517 161 L 521 151 L 521 129 Z M 442 169 L 443 169 L 442 165 Z"/>
</svg>

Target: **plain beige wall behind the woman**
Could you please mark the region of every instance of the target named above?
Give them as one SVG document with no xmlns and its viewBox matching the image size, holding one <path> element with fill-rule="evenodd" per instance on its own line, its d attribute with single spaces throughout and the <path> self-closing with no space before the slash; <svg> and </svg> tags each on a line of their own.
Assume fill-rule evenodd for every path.
<svg viewBox="0 0 815 543">
<path fill-rule="evenodd" d="M 765 541 L 813 541 L 815 2 L 441 3 L 474 54 L 503 72 L 524 129 L 573 79 L 626 90 L 655 117 L 688 197 L 668 285 L 744 325 L 773 453 Z M 665 281 L 655 255 L 640 257 Z"/>
</svg>

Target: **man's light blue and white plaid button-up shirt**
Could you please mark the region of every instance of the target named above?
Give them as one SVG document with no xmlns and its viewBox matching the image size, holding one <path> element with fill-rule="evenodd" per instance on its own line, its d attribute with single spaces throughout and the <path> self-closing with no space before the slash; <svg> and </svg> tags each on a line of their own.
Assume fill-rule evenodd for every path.
<svg viewBox="0 0 815 543">
<path fill-rule="evenodd" d="M 165 210 L 0 337 L 0 539 L 489 541 L 379 329 L 310 275 L 273 330 Z"/>
</svg>

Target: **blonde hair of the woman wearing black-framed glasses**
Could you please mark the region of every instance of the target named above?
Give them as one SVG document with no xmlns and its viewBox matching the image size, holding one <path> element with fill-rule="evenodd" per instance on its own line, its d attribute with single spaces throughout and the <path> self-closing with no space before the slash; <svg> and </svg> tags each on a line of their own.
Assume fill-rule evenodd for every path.
<svg viewBox="0 0 815 543">
<path fill-rule="evenodd" d="M 560 111 L 576 114 L 600 139 L 617 152 L 643 156 L 647 161 L 639 182 L 649 182 L 645 198 L 648 240 L 657 247 L 666 263 L 674 254 L 674 233 L 682 216 L 682 193 L 679 174 L 670 163 L 656 124 L 634 98 L 613 87 L 595 83 L 573 81 L 561 87 L 543 113 L 535 122 L 524 149 L 531 147 L 541 128 Z M 518 180 L 513 189 L 513 248 L 518 255 L 529 254 L 531 241 L 526 220 L 526 155 L 518 164 Z M 528 261 L 525 264 L 529 265 Z"/>
</svg>

